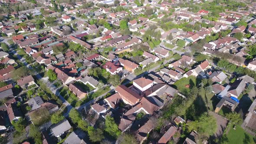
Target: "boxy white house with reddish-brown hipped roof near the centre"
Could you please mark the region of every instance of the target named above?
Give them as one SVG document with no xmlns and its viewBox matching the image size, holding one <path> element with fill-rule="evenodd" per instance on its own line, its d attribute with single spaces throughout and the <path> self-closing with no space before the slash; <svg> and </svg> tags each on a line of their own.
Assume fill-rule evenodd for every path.
<svg viewBox="0 0 256 144">
<path fill-rule="evenodd" d="M 151 88 L 153 86 L 154 82 L 150 79 L 145 79 L 143 77 L 139 79 L 135 79 L 133 81 L 133 85 L 138 88 L 141 92 L 144 92 L 148 88 Z"/>
</svg>

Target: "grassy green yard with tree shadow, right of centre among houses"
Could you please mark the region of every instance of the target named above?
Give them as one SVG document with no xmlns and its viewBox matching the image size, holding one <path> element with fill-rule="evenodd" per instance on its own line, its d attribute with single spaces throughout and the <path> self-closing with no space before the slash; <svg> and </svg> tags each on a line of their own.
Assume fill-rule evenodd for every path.
<svg viewBox="0 0 256 144">
<path fill-rule="evenodd" d="M 174 88 L 176 88 L 181 94 L 188 95 L 190 93 L 190 88 L 196 85 L 197 79 L 194 76 L 189 76 L 188 78 L 182 78 L 175 82 Z M 185 86 L 186 85 L 186 86 Z"/>
</svg>

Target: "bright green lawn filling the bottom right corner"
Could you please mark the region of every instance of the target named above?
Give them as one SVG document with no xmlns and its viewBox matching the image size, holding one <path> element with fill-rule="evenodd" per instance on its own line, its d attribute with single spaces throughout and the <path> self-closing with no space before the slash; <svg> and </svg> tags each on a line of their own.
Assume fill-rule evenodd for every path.
<svg viewBox="0 0 256 144">
<path fill-rule="evenodd" d="M 236 130 L 234 130 L 233 125 L 234 124 L 228 124 L 226 128 L 228 144 L 255 144 L 252 135 L 244 131 L 239 125 L 236 125 Z"/>
</svg>

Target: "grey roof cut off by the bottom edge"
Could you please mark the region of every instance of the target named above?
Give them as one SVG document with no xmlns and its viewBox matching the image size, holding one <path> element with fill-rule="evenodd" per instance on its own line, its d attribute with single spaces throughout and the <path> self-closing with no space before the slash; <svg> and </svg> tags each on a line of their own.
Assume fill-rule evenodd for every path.
<svg viewBox="0 0 256 144">
<path fill-rule="evenodd" d="M 83 131 L 76 130 L 69 134 L 63 144 L 86 144 L 83 140 L 85 137 L 86 134 Z"/>
</svg>

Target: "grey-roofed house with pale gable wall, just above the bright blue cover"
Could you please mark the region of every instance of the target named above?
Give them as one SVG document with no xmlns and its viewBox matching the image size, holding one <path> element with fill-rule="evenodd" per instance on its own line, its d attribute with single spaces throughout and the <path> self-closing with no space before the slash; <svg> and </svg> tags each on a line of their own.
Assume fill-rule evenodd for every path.
<svg viewBox="0 0 256 144">
<path fill-rule="evenodd" d="M 243 79 L 237 79 L 228 90 L 228 96 L 238 98 L 240 94 L 243 92 L 246 83 Z"/>
</svg>

